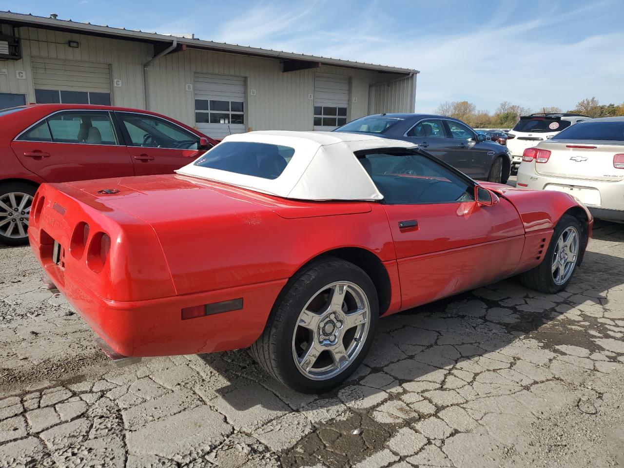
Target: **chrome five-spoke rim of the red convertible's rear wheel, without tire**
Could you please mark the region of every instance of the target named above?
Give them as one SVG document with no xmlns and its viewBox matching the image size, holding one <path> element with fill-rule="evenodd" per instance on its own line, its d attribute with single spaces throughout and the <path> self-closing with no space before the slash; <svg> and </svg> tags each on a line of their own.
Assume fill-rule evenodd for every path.
<svg viewBox="0 0 624 468">
<path fill-rule="evenodd" d="M 371 307 L 358 285 L 337 281 L 316 291 L 297 319 L 293 359 L 306 378 L 326 380 L 358 356 L 369 331 Z"/>
</svg>

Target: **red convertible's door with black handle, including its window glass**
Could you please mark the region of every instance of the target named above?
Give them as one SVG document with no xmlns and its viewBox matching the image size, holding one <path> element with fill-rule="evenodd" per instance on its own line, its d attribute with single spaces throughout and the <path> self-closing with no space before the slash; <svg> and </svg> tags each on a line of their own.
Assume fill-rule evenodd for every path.
<svg viewBox="0 0 624 468">
<path fill-rule="evenodd" d="M 366 152 L 358 158 L 384 196 L 402 308 L 515 272 L 524 226 L 510 202 L 475 202 L 472 181 L 412 150 Z"/>
</svg>

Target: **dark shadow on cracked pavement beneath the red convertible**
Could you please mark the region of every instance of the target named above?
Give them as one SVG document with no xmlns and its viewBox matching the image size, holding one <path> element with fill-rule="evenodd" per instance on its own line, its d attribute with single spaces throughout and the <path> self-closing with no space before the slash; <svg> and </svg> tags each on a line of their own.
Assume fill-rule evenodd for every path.
<svg viewBox="0 0 624 468">
<path fill-rule="evenodd" d="M 588 288 L 591 283 L 600 287 Z M 560 325 L 551 323 L 574 309 L 589 311 L 596 305 L 608 305 L 607 291 L 622 283 L 624 258 L 587 251 L 582 267 L 560 295 L 529 290 L 510 278 L 383 318 L 363 365 L 340 388 L 319 396 L 311 407 L 315 396 L 278 383 L 246 350 L 201 357 L 229 381 L 216 392 L 236 411 L 254 407 L 344 411 L 345 404 L 391 392 L 404 383 L 441 383 L 445 369 L 461 367 L 467 360 L 489 360 L 488 354 L 519 338 L 535 338 L 543 349 L 570 342 L 600 351 L 584 328 L 566 326 L 562 333 Z M 592 323 L 592 327 L 598 325 Z"/>
</svg>

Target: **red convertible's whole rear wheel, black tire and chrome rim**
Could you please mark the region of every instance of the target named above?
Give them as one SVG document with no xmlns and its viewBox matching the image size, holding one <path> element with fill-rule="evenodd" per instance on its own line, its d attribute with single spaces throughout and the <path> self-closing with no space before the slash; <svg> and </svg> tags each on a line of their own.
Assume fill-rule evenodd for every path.
<svg viewBox="0 0 624 468">
<path fill-rule="evenodd" d="M 251 354 L 286 386 L 323 393 L 358 368 L 378 316 L 371 278 L 353 263 L 326 257 L 291 278 Z"/>
</svg>

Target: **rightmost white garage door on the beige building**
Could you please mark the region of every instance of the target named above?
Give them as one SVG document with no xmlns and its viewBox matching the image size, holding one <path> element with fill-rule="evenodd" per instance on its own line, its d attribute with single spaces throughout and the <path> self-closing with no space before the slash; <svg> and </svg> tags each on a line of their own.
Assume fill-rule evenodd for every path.
<svg viewBox="0 0 624 468">
<path fill-rule="evenodd" d="M 347 123 L 349 77 L 314 75 L 314 130 L 333 130 Z"/>
</svg>

